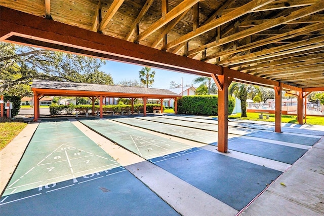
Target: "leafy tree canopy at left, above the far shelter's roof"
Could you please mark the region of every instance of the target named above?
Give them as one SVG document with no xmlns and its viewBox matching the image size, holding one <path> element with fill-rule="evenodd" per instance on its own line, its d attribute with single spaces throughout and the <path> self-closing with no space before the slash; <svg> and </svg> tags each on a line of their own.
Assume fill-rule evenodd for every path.
<svg viewBox="0 0 324 216">
<path fill-rule="evenodd" d="M 28 46 L 0 43 L 0 94 L 31 93 L 33 79 L 113 84 L 99 71 L 105 60 Z"/>
</svg>

